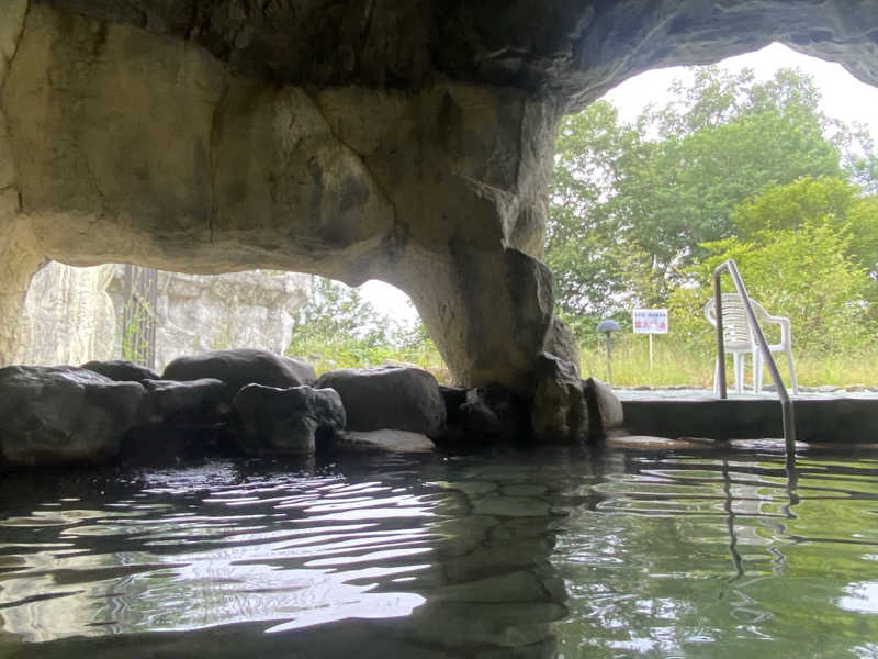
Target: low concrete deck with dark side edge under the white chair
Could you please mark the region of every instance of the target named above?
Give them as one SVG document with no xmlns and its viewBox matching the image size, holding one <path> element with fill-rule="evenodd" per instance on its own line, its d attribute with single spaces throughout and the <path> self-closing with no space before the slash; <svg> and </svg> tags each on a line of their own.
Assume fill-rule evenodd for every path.
<svg viewBox="0 0 878 659">
<path fill-rule="evenodd" d="M 624 429 L 631 435 L 757 439 L 783 437 L 780 401 L 710 390 L 661 389 L 614 392 L 621 399 Z M 797 440 L 817 444 L 878 443 L 878 393 L 868 390 L 809 390 L 793 396 Z"/>
</svg>

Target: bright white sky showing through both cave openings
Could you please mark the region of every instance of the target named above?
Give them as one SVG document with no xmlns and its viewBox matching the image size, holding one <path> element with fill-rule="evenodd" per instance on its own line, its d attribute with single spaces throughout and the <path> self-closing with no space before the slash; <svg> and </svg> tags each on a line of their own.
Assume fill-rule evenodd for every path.
<svg viewBox="0 0 878 659">
<path fill-rule="evenodd" d="M 825 114 L 846 122 L 864 123 L 873 137 L 878 139 L 878 88 L 860 82 L 840 64 L 772 44 L 761 51 L 723 59 L 719 66 L 730 70 L 750 67 L 757 80 L 773 78 L 779 68 L 802 69 L 813 76 L 823 97 L 821 109 Z M 655 69 L 626 80 L 604 98 L 619 108 L 622 120 L 633 121 L 646 103 L 661 104 L 664 101 L 674 79 L 686 80 L 690 77 L 684 67 Z M 381 313 L 406 321 L 416 316 L 414 309 L 405 304 L 405 293 L 387 283 L 368 281 L 361 291 Z"/>
</svg>

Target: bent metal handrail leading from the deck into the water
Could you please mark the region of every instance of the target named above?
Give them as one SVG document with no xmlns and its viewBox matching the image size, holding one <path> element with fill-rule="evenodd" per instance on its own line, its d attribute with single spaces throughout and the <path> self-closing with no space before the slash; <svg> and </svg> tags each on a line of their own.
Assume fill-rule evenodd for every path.
<svg viewBox="0 0 878 659">
<path fill-rule="evenodd" d="M 772 351 L 768 349 L 768 342 L 765 340 L 765 334 L 753 311 L 753 305 L 750 303 L 750 295 L 747 295 L 747 289 L 741 280 L 738 265 L 734 263 L 734 259 L 731 258 L 721 263 L 713 270 L 713 304 L 716 306 L 714 313 L 717 314 L 717 365 L 719 371 L 717 377 L 720 384 L 720 398 L 729 398 L 729 393 L 725 389 L 725 340 L 722 336 L 722 294 L 720 291 L 720 276 L 723 270 L 728 271 L 731 276 L 732 283 L 734 283 L 734 288 L 738 290 L 738 294 L 744 303 L 744 311 L 747 314 L 750 330 L 756 338 L 756 343 L 765 359 L 765 365 L 768 367 L 768 372 L 772 375 L 772 380 L 777 389 L 777 396 L 780 399 L 780 411 L 784 418 L 784 443 L 787 447 L 787 461 L 789 462 L 796 455 L 796 417 L 792 413 L 792 400 L 789 398 L 789 393 L 787 393 L 787 388 L 780 379 L 775 359 L 772 357 Z"/>
</svg>

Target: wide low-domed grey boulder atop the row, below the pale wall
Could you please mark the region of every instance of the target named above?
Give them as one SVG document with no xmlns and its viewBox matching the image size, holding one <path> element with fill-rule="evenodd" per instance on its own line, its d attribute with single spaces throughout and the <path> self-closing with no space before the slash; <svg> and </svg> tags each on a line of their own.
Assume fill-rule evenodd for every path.
<svg viewBox="0 0 878 659">
<path fill-rule="evenodd" d="M 237 348 L 213 350 L 200 355 L 178 357 L 162 375 L 164 380 L 222 380 L 233 393 L 247 384 L 263 384 L 288 389 L 313 384 L 314 369 L 299 359 L 282 357 L 267 350 Z"/>
</svg>

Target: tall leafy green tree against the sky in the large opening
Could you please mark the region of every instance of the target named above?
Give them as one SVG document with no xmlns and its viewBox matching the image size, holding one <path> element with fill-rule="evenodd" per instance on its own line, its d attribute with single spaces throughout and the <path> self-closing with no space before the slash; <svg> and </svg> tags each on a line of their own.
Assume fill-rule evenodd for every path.
<svg viewBox="0 0 878 659">
<path fill-rule="evenodd" d="M 740 211 L 738 224 L 733 210 L 762 190 L 802 177 L 833 181 L 814 203 L 848 210 L 856 188 L 843 177 L 856 170 L 868 180 L 870 147 L 862 131 L 823 115 L 819 101 L 811 78 L 796 70 L 756 82 L 750 70 L 705 67 L 634 125 L 606 102 L 565 118 L 545 253 L 561 315 L 582 336 L 598 315 L 666 303 L 710 255 L 705 243 L 758 228 L 755 210 L 752 222 Z M 856 159 L 845 155 L 852 145 L 859 169 L 843 167 Z M 870 217 L 864 211 L 864 226 Z"/>
</svg>

